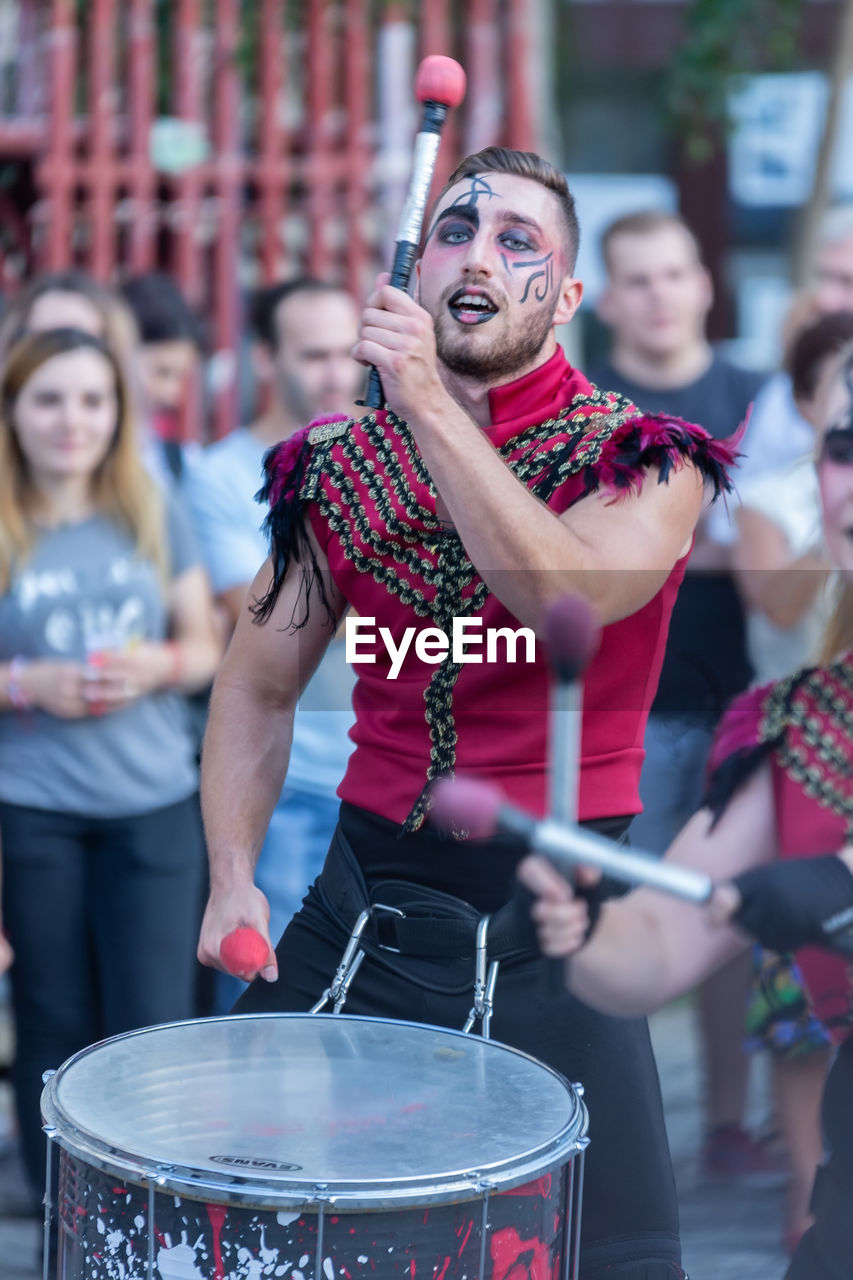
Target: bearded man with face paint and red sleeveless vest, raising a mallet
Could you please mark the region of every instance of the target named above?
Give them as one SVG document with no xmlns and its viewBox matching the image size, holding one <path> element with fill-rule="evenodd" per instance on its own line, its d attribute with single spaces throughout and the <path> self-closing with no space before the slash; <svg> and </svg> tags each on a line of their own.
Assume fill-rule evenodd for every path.
<svg viewBox="0 0 853 1280">
<path fill-rule="evenodd" d="M 438 197 L 414 297 L 380 279 L 362 315 L 355 355 L 379 370 L 386 408 L 315 422 L 268 457 L 270 559 L 214 689 L 204 755 L 205 963 L 220 964 L 232 929 L 268 936 L 254 859 L 296 699 L 348 605 L 398 644 L 406 627 L 448 635 L 459 618 L 535 628 L 555 599 L 581 593 L 603 632 L 584 680 L 580 818 L 617 837 L 638 812 L 669 616 L 704 481 L 725 485 L 730 456 L 567 364 L 555 326 L 580 302 L 576 247 L 574 201 L 551 165 L 497 147 L 465 160 Z M 405 916 L 371 913 L 347 1012 L 462 1027 L 489 915 L 492 1033 L 583 1080 L 594 1116 L 583 1280 L 674 1280 L 678 1211 L 646 1023 L 549 989 L 512 902 L 511 841 L 424 824 L 429 782 L 453 772 L 544 812 L 544 655 L 410 650 L 388 680 L 378 645 L 357 673 L 356 748 L 323 874 L 237 1009 L 310 1009 L 356 916 L 382 902 Z"/>
</svg>

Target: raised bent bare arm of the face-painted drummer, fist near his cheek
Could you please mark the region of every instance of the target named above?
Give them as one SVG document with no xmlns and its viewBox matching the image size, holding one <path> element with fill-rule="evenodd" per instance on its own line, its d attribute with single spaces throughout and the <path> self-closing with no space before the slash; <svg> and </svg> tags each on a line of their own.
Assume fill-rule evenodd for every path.
<svg viewBox="0 0 853 1280">
<path fill-rule="evenodd" d="M 689 550 L 703 500 L 692 463 L 666 484 L 649 470 L 640 493 L 594 493 L 555 515 L 448 393 L 432 317 L 400 289 L 371 296 L 355 355 L 379 370 L 471 562 L 520 622 L 538 626 L 569 591 L 584 595 L 602 625 L 616 622 L 651 600 Z"/>
</svg>

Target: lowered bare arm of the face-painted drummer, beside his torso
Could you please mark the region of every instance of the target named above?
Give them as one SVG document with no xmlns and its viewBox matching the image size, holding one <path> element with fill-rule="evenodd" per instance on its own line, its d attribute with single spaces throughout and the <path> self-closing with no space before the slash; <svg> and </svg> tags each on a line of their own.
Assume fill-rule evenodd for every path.
<svg viewBox="0 0 853 1280">
<path fill-rule="evenodd" d="M 346 602 L 316 545 L 315 554 L 337 620 Z M 292 627 L 305 611 L 302 571 L 296 563 L 273 614 L 257 626 L 248 603 L 264 594 L 270 577 L 268 562 L 252 584 L 214 684 L 202 751 L 210 901 L 199 959 L 215 966 L 222 940 L 232 929 L 251 925 L 268 938 L 269 905 L 254 886 L 255 863 L 287 773 L 296 703 L 333 635 L 316 588 L 306 625 Z M 273 964 L 264 975 L 274 978 Z"/>
</svg>

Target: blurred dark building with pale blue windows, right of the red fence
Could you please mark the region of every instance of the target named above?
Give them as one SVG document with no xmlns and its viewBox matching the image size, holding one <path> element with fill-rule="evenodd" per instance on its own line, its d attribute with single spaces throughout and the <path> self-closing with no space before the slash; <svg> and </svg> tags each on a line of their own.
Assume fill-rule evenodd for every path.
<svg viewBox="0 0 853 1280">
<path fill-rule="evenodd" d="M 699 160 L 667 119 L 667 92 L 701 12 L 708 42 L 722 44 L 738 5 L 726 0 L 556 0 L 555 143 L 578 189 L 587 242 L 583 346 L 598 355 L 594 317 L 601 276 L 597 229 L 629 209 L 678 209 L 694 228 L 715 279 L 710 335 L 733 358 L 771 367 L 790 297 L 792 255 L 809 198 L 826 115 L 827 72 L 850 0 L 743 0 L 744 44 L 730 59 L 748 68 L 726 91 L 730 123 L 710 123 Z M 713 32 L 715 10 L 719 31 Z M 753 28 L 748 31 L 749 14 Z M 790 49 L 771 56 L 774 24 L 789 24 Z M 779 41 L 776 41 L 779 44 Z M 711 49 L 690 50 L 711 70 Z M 671 104 L 670 104 L 671 111 Z M 830 198 L 853 198 L 853 84 L 839 122 Z M 580 340 L 579 338 L 576 340 Z"/>
</svg>

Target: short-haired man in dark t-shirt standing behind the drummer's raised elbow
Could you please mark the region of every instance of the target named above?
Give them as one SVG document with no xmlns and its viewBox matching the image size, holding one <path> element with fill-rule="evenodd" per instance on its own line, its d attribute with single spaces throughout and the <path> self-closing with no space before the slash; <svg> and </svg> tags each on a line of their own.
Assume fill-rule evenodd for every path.
<svg viewBox="0 0 853 1280">
<path fill-rule="evenodd" d="M 606 229 L 607 283 L 598 314 L 612 335 L 610 360 L 589 370 L 649 412 L 733 435 L 762 376 L 738 369 L 706 335 L 712 285 L 690 228 L 670 212 L 628 214 Z M 631 842 L 662 854 L 699 806 L 713 728 L 749 684 L 744 611 L 729 564 L 734 540 L 725 511 L 706 512 L 672 612 L 658 691 L 646 736 L 640 781 L 644 812 Z M 708 1172 L 779 1174 L 774 1158 L 744 1132 L 748 1060 L 743 1009 L 749 957 L 701 989 L 706 1059 Z"/>
</svg>

